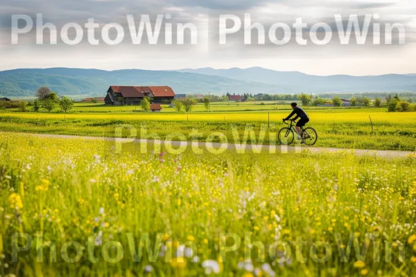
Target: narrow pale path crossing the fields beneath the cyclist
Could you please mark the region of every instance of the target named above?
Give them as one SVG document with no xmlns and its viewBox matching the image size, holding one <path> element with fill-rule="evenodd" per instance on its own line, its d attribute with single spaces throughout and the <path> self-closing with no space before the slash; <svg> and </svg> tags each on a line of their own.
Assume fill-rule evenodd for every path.
<svg viewBox="0 0 416 277">
<path fill-rule="evenodd" d="M 58 135 L 58 134 L 31 134 L 31 133 L 17 133 L 17 134 L 25 134 L 27 136 L 38 136 L 38 137 L 46 137 L 46 138 L 57 138 L 57 139 L 86 139 L 86 140 L 105 140 L 105 141 L 116 141 L 118 143 L 155 143 L 152 140 L 146 139 L 119 139 L 119 138 L 109 138 L 109 137 L 98 137 L 98 136 L 71 136 L 71 135 Z M 314 154 L 319 153 L 327 153 L 327 152 L 351 152 L 356 154 L 357 156 L 376 156 L 376 157 L 385 157 L 385 158 L 395 158 L 395 157 L 406 157 L 409 155 L 415 155 L 416 152 L 409 152 L 409 151 L 392 151 L 392 150 L 361 150 L 361 149 L 345 149 L 345 148 L 315 148 L 315 147 L 304 147 L 304 146 L 284 146 L 284 145 L 240 145 L 240 144 L 233 144 L 227 143 L 227 145 L 221 145 L 220 143 L 204 143 L 204 142 L 191 142 L 191 141 L 161 141 L 164 145 L 166 143 L 170 143 L 174 147 L 187 147 L 191 148 L 198 147 L 200 149 L 206 149 L 207 147 L 214 147 L 216 150 L 219 148 L 227 147 L 227 150 L 236 150 L 236 151 L 243 151 L 245 152 L 252 152 L 252 151 L 266 151 L 271 154 L 275 153 L 300 153 L 302 151 L 309 151 Z M 212 145 L 212 146 L 211 146 Z"/>
</svg>

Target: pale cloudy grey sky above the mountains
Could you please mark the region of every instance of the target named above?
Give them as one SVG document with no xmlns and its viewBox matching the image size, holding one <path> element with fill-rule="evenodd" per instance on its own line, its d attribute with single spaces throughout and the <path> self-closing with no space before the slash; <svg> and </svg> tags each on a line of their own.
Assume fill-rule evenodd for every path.
<svg viewBox="0 0 416 277">
<path fill-rule="evenodd" d="M 42 22 L 37 18 L 42 15 Z M 168 14 L 168 15 L 167 15 Z M 130 15 L 130 25 L 128 21 Z M 130 32 L 139 29 L 140 21 L 148 16 L 150 26 L 155 28 L 157 16 L 162 17 L 159 39 L 149 43 L 144 35 L 140 44 L 133 43 Z M 167 15 L 167 16 L 166 16 Z M 263 31 L 254 28 L 244 33 L 245 15 L 250 15 L 251 24 L 261 24 L 264 29 L 264 44 L 258 44 Z M 370 16 L 369 34 L 365 44 L 356 39 L 341 44 L 335 15 L 342 17 L 347 26 L 350 15 L 356 15 L 360 26 Z M 17 25 L 13 19 L 21 17 Z M 220 19 L 228 17 L 221 24 Z M 24 19 L 26 18 L 26 19 Z M 33 28 L 23 32 L 27 19 L 33 21 Z M 233 19 L 231 19 L 233 18 Z M 85 24 L 94 19 L 97 25 L 88 33 Z M 294 24 L 302 19 L 307 26 L 300 32 L 307 44 L 297 43 Z M 25 21 L 26 20 L 26 21 Z M 233 21 L 234 20 L 234 21 Z M 227 35 L 227 43 L 220 44 L 220 28 L 231 29 L 241 21 L 238 32 Z M 123 39 L 116 45 L 115 23 L 123 29 Z M 171 30 L 166 27 L 171 25 Z M 325 24 L 333 30 L 332 37 L 325 45 L 316 45 L 311 37 L 324 39 L 322 28 L 314 24 Z M 377 31 L 374 23 L 379 24 Z M 39 27 L 37 27 L 39 24 Z M 51 44 L 53 32 L 42 24 L 53 24 L 56 28 L 56 44 Z M 68 24 L 81 26 L 81 33 Z M 191 44 L 191 29 L 184 31 L 184 44 L 178 44 L 178 24 L 195 26 L 196 43 Z M 184 25 L 188 24 L 188 25 Z M 288 42 L 279 45 L 272 38 L 282 42 L 283 28 L 276 24 L 291 26 Z M 392 44 L 385 44 L 386 24 L 404 26 L 405 42 L 400 42 L 399 30 L 392 33 Z M 108 38 L 103 36 L 108 27 Z M 258 26 L 258 25 L 257 25 Z M 321 25 L 322 26 L 322 25 Z M 63 30 L 66 30 L 63 32 Z M 26 31 L 25 31 L 26 32 Z M 43 44 L 37 43 L 43 33 Z M 64 33 L 64 35 L 62 35 Z M 145 32 L 146 33 L 146 30 Z M 247 34 L 252 34 L 252 44 L 245 44 Z M 272 33 L 272 38 L 270 38 Z M 380 33 L 380 44 L 374 44 L 374 37 Z M 92 45 L 89 35 L 94 34 L 98 45 Z M 120 35 L 120 32 L 118 33 Z M 134 34 L 137 35 L 137 34 Z M 65 44 L 79 39 L 76 45 Z M 171 37 L 172 43 L 168 44 Z M 15 34 L 16 37 L 16 34 Z M 73 67 L 94 69 L 149 69 L 173 70 L 213 67 L 228 69 L 261 66 L 278 71 L 301 71 L 313 75 L 381 75 L 385 73 L 416 73 L 416 1 L 414 0 L 2 0 L 0 2 L 0 70 L 18 68 Z"/>
</svg>

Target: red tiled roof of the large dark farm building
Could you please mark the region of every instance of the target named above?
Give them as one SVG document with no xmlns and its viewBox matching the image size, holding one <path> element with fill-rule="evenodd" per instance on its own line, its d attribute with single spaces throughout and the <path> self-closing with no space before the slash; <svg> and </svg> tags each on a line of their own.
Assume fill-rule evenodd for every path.
<svg viewBox="0 0 416 277">
<path fill-rule="evenodd" d="M 146 93 L 153 93 L 155 97 L 175 97 L 171 87 L 135 87 L 135 86 L 111 86 L 112 91 L 121 93 L 124 98 L 141 98 Z"/>
</svg>

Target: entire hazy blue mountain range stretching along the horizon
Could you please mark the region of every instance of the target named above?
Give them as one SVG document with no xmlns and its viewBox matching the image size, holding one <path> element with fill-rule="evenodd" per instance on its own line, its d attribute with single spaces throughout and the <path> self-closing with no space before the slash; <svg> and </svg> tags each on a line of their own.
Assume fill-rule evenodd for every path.
<svg viewBox="0 0 416 277">
<path fill-rule="evenodd" d="M 176 93 L 311 93 L 416 91 L 416 74 L 308 75 L 297 71 L 249 69 L 14 69 L 0 71 L 1 96 L 33 96 L 42 86 L 58 95 L 104 96 L 110 85 L 168 85 Z"/>
</svg>

